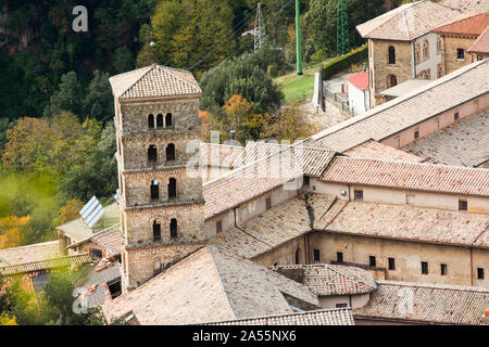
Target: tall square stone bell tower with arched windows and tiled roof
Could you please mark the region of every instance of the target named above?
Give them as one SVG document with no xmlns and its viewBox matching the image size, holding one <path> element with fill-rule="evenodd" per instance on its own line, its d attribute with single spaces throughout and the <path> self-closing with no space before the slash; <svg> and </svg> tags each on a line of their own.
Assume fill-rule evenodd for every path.
<svg viewBox="0 0 489 347">
<path fill-rule="evenodd" d="M 110 81 L 127 291 L 205 242 L 197 167 L 201 89 L 191 73 L 155 64 Z"/>
</svg>

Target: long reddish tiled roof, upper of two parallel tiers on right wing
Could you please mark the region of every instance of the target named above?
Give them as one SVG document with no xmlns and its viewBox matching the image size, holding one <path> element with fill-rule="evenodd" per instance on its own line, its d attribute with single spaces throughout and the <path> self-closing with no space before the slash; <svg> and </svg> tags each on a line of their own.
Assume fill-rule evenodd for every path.
<svg viewBox="0 0 489 347">
<path fill-rule="evenodd" d="M 401 190 L 489 196 L 489 170 L 337 156 L 323 181 Z"/>
</svg>

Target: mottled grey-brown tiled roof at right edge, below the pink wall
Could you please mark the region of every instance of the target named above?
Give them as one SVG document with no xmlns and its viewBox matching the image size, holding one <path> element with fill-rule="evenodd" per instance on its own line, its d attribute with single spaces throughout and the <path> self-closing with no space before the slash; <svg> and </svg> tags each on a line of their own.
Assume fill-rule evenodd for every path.
<svg viewBox="0 0 489 347">
<path fill-rule="evenodd" d="M 472 115 L 403 147 L 430 163 L 476 167 L 489 160 L 489 111 Z"/>
</svg>

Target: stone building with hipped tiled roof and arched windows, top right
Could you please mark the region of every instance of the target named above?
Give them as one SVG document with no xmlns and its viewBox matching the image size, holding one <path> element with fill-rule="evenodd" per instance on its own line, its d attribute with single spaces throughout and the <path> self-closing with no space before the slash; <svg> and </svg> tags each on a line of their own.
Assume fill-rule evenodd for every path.
<svg viewBox="0 0 489 347">
<path fill-rule="evenodd" d="M 356 26 L 368 40 L 372 105 L 381 91 L 408 79 L 440 77 L 441 50 L 430 29 L 459 14 L 459 10 L 426 0 L 401 5 Z"/>
</svg>

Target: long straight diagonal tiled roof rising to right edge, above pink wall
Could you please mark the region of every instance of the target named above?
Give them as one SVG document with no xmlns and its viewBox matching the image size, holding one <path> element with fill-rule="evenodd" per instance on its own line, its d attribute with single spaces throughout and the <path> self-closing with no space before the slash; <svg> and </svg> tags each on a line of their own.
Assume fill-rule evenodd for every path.
<svg viewBox="0 0 489 347">
<path fill-rule="evenodd" d="M 312 137 L 317 146 L 344 152 L 369 139 L 381 141 L 489 92 L 489 60 L 456 69 L 426 87 L 386 102 Z"/>
</svg>

